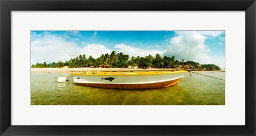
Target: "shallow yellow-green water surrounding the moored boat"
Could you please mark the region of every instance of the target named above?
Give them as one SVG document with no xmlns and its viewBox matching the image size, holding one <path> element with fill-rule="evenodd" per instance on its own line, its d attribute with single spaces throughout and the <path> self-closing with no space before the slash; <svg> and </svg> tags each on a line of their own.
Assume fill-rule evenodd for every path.
<svg viewBox="0 0 256 136">
<path fill-rule="evenodd" d="M 196 71 L 225 79 L 225 72 Z M 120 90 L 58 83 L 71 73 L 31 72 L 31 105 L 225 105 L 225 81 L 185 73 L 175 87 Z"/>
</svg>

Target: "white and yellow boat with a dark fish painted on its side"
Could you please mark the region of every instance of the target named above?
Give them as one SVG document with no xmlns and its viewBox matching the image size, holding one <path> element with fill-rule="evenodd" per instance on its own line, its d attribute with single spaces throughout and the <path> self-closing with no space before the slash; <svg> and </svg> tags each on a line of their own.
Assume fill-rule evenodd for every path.
<svg viewBox="0 0 256 136">
<path fill-rule="evenodd" d="M 74 83 L 82 86 L 117 89 L 153 89 L 177 85 L 186 71 L 74 73 Z"/>
</svg>

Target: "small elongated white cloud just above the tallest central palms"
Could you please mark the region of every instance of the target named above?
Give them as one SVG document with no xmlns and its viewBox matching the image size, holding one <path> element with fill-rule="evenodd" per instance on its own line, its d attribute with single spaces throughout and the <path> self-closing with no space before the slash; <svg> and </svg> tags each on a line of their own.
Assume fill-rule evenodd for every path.
<svg viewBox="0 0 256 136">
<path fill-rule="evenodd" d="M 149 54 L 152 56 L 155 56 L 156 54 L 163 54 L 163 51 L 161 50 L 148 50 L 148 49 L 139 49 L 139 48 L 134 48 L 131 46 L 126 46 L 124 44 L 119 44 L 116 45 L 115 48 L 119 48 L 117 50 L 117 53 L 124 53 L 129 55 L 131 58 L 132 56 L 137 57 L 137 56 L 148 56 Z"/>
</svg>

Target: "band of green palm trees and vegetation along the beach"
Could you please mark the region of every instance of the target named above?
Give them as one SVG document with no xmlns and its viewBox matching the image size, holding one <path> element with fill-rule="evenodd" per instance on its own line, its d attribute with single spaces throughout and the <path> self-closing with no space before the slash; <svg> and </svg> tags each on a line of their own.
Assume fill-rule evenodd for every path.
<svg viewBox="0 0 256 136">
<path fill-rule="evenodd" d="M 52 62 L 49 64 L 44 63 L 37 63 L 36 65 L 32 65 L 33 68 L 45 68 L 45 67 L 57 67 L 61 68 L 64 66 L 68 67 L 98 67 L 99 65 L 102 66 L 109 66 L 109 67 L 127 67 L 127 66 L 138 66 L 142 69 L 147 69 L 148 67 L 151 68 L 175 68 L 179 65 L 189 65 L 192 69 L 207 69 L 207 70 L 220 70 L 219 66 L 213 64 L 206 64 L 200 65 L 199 63 L 193 61 L 183 62 L 175 60 L 175 57 L 164 56 L 162 57 L 159 54 L 156 56 L 145 56 L 145 57 L 133 57 L 129 60 L 129 55 L 121 53 L 116 53 L 115 51 L 111 52 L 110 54 L 102 54 L 98 58 L 93 58 L 89 56 L 86 58 L 85 55 L 79 55 L 76 58 L 70 58 L 69 61 L 66 62 Z"/>
</svg>

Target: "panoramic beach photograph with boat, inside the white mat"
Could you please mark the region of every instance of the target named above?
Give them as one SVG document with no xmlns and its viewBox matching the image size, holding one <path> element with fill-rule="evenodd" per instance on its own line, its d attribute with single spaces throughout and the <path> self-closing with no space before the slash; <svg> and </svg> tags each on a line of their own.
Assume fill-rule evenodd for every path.
<svg viewBox="0 0 256 136">
<path fill-rule="evenodd" d="M 225 105 L 224 30 L 30 36 L 31 105 Z"/>
</svg>

